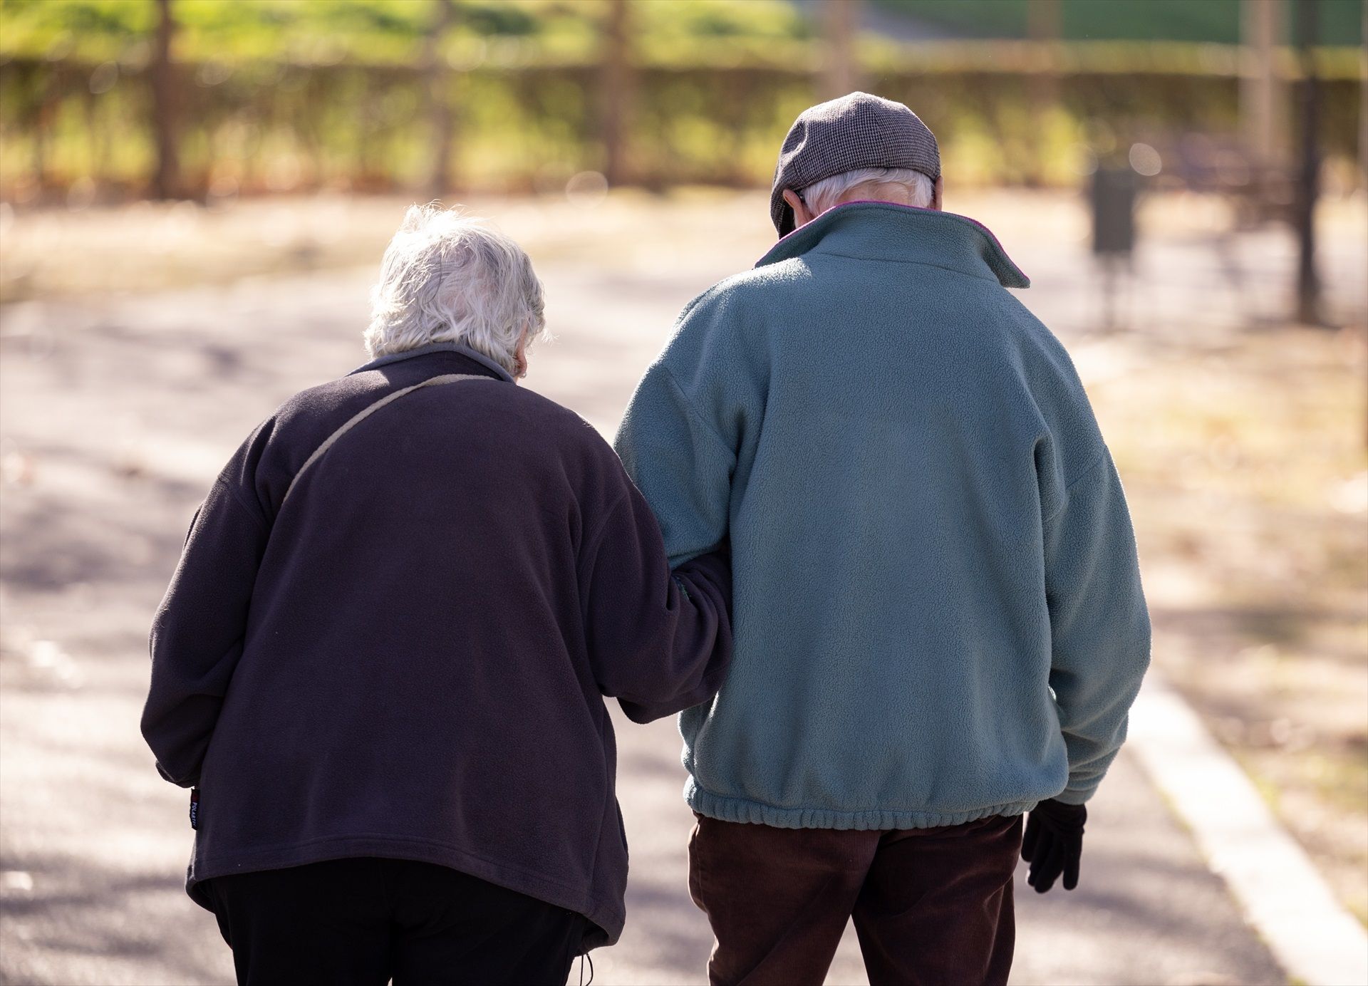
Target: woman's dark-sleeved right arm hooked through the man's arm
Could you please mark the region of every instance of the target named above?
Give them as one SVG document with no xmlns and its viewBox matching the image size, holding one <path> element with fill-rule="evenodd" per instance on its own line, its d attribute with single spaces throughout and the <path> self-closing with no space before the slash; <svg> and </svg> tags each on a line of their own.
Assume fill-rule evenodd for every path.
<svg viewBox="0 0 1368 986">
<path fill-rule="evenodd" d="M 590 661 L 633 722 L 710 699 L 732 659 L 732 572 L 709 552 L 673 573 L 642 495 L 629 484 L 586 544 L 581 594 Z"/>
</svg>

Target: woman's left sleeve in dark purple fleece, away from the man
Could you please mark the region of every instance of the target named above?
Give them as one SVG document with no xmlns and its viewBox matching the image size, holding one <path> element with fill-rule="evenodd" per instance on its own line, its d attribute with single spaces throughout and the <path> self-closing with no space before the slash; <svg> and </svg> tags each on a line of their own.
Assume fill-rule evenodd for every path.
<svg viewBox="0 0 1368 986">
<path fill-rule="evenodd" d="M 190 525 L 153 621 L 142 737 L 161 775 L 182 788 L 198 784 L 228 680 L 242 656 L 267 536 L 265 521 L 220 479 Z"/>
</svg>

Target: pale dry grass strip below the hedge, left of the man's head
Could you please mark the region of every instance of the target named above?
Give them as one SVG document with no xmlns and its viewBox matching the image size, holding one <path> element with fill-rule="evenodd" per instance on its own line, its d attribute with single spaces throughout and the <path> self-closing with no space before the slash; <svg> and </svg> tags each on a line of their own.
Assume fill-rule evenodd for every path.
<svg viewBox="0 0 1368 986">
<path fill-rule="evenodd" d="M 670 232 L 700 248 L 739 234 L 735 193 L 679 189 L 669 194 L 616 191 L 606 200 L 564 196 L 451 196 L 446 200 L 498 226 L 538 260 L 579 257 L 586 235 L 618 261 L 637 250 L 643 231 L 653 254 L 673 253 Z M 16 211 L 0 202 L 0 304 L 27 298 L 157 291 L 230 283 L 250 276 L 375 265 L 394 235 L 409 196 L 280 196 L 205 208 L 196 202 Z M 750 200 L 747 198 L 747 205 Z M 741 215 L 743 235 L 773 239 L 761 209 Z M 688 256 L 672 261 L 696 264 Z"/>
</svg>

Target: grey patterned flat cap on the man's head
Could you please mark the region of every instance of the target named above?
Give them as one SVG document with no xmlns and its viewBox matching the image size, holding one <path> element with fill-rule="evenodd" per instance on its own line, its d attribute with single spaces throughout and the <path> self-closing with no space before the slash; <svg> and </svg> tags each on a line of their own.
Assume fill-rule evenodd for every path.
<svg viewBox="0 0 1368 986">
<path fill-rule="evenodd" d="M 778 152 L 770 219 L 784 237 L 793 231 L 793 211 L 784 189 L 808 185 L 856 168 L 911 168 L 940 178 L 936 134 L 902 103 L 851 93 L 808 107 L 798 115 Z"/>
</svg>

